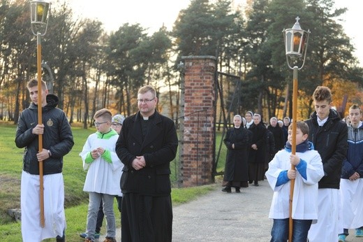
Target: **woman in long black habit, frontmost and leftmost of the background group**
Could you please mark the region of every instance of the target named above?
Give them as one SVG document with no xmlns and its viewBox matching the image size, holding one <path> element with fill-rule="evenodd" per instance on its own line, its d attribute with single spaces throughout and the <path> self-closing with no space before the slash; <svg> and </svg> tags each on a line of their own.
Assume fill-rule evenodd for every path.
<svg viewBox="0 0 363 242">
<path fill-rule="evenodd" d="M 234 127 L 228 129 L 224 138 L 227 146 L 227 157 L 222 185 L 223 192 L 231 192 L 235 187 L 240 192 L 240 187 L 249 187 L 249 149 L 251 147 L 252 132 L 242 126 L 242 117 L 233 117 Z"/>
</svg>

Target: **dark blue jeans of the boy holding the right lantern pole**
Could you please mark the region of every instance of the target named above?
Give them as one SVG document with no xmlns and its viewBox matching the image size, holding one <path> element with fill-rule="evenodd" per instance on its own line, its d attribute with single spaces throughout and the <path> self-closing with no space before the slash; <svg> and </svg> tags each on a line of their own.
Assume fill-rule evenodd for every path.
<svg viewBox="0 0 363 242">
<path fill-rule="evenodd" d="M 312 220 L 292 220 L 292 241 L 306 242 Z M 288 218 L 274 219 L 271 242 L 288 241 Z"/>
</svg>

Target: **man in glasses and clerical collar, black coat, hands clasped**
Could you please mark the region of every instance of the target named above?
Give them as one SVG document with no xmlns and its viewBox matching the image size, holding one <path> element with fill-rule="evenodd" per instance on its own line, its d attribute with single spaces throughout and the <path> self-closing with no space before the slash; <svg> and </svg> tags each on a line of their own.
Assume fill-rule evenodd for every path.
<svg viewBox="0 0 363 242">
<path fill-rule="evenodd" d="M 172 241 L 170 162 L 177 155 L 175 124 L 156 111 L 156 90 L 138 91 L 138 113 L 128 116 L 116 143 L 121 176 L 121 240 Z"/>
</svg>

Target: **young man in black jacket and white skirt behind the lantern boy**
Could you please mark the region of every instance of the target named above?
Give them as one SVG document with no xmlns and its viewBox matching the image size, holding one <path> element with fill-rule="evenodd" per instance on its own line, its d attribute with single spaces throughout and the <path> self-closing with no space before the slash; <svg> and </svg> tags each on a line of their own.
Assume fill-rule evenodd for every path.
<svg viewBox="0 0 363 242">
<path fill-rule="evenodd" d="M 332 109 L 332 92 L 318 86 L 313 92 L 315 111 L 309 120 L 309 141 L 323 161 L 324 176 L 319 181 L 318 222 L 309 230 L 310 242 L 338 241 L 339 183 L 341 166 L 348 148 L 348 127 Z"/>
</svg>

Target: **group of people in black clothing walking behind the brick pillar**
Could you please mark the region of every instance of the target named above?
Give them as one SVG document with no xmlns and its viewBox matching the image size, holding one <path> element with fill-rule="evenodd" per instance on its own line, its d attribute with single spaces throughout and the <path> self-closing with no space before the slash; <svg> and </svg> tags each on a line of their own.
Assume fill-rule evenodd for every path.
<svg viewBox="0 0 363 242">
<path fill-rule="evenodd" d="M 240 187 L 258 186 L 258 181 L 265 179 L 269 161 L 288 140 L 290 118 L 283 120 L 285 124 L 280 127 L 276 117 L 266 125 L 261 115 L 252 111 L 246 112 L 244 117 L 233 117 L 233 127 L 226 131 L 223 139 L 227 147 L 223 192 L 232 192 L 231 187 L 240 192 Z"/>
</svg>

